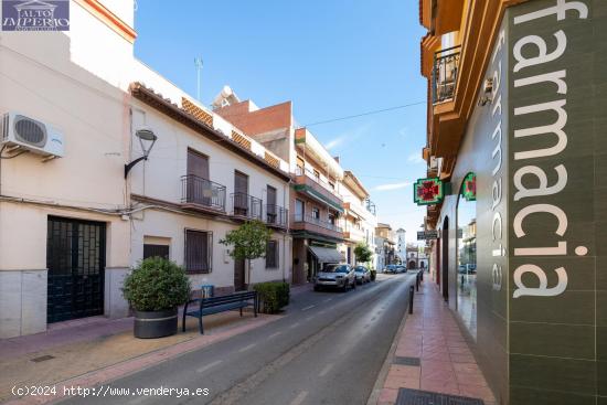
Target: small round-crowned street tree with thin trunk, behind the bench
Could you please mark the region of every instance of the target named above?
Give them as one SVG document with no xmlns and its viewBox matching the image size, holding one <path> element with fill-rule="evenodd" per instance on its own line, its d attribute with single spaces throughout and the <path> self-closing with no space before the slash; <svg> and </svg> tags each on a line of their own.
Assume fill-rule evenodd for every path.
<svg viewBox="0 0 607 405">
<path fill-rule="evenodd" d="M 271 231 L 260 221 L 247 221 L 237 228 L 230 231 L 222 245 L 232 246 L 230 256 L 237 260 L 247 260 L 248 284 L 251 284 L 251 260 L 266 256 L 266 247 Z"/>
</svg>

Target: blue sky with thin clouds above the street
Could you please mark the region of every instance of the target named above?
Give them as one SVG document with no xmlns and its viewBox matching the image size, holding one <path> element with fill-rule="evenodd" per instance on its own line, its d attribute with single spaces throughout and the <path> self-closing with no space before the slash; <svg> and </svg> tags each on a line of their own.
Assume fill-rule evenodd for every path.
<svg viewBox="0 0 607 405">
<path fill-rule="evenodd" d="M 424 220 L 412 183 L 425 175 L 426 82 L 414 0 L 139 0 L 136 56 L 201 100 L 224 85 L 294 116 L 371 193 L 380 222 L 416 242 Z M 344 116 L 406 108 L 311 125 Z"/>
</svg>

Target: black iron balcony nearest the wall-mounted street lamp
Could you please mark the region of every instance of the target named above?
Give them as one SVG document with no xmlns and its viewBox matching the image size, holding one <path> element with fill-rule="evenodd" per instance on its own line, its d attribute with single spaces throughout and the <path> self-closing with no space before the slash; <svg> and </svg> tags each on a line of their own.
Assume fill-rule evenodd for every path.
<svg viewBox="0 0 607 405">
<path fill-rule="evenodd" d="M 182 175 L 181 203 L 193 210 L 225 212 L 225 185 L 193 174 Z"/>
</svg>

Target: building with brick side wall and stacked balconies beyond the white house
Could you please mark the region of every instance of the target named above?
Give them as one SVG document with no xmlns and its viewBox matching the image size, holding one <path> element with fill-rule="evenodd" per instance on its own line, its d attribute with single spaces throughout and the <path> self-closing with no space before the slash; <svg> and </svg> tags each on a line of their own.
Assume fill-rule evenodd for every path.
<svg viewBox="0 0 607 405">
<path fill-rule="evenodd" d="M 214 111 L 288 162 L 291 174 L 291 283 L 312 279 L 323 264 L 341 263 L 344 242 L 344 171 L 339 161 L 292 117 L 291 103 L 265 108 L 242 102 L 230 88 L 215 98 Z"/>
</svg>

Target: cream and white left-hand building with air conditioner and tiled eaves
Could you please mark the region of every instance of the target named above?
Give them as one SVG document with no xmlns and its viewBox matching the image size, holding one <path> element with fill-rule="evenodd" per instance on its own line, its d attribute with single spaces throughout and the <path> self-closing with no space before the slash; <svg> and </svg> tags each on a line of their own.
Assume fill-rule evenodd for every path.
<svg viewBox="0 0 607 405">
<path fill-rule="evenodd" d="M 0 338 L 127 316 L 149 255 L 220 294 L 289 279 L 288 163 L 134 57 L 132 1 L 70 9 L 68 31 L 0 32 Z M 248 217 L 274 230 L 252 280 L 219 244 Z"/>
</svg>

